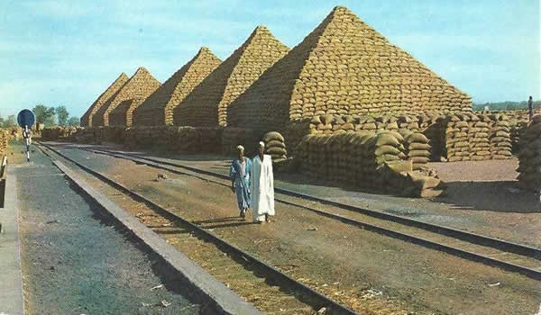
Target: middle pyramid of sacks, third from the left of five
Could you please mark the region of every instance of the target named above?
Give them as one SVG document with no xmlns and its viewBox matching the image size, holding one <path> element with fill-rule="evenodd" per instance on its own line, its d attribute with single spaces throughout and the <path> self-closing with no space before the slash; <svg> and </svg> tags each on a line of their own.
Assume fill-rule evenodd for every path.
<svg viewBox="0 0 541 315">
<path fill-rule="evenodd" d="M 175 107 L 221 62 L 210 49 L 199 49 L 194 58 L 137 107 L 133 113 L 133 125 L 172 125 Z"/>
</svg>

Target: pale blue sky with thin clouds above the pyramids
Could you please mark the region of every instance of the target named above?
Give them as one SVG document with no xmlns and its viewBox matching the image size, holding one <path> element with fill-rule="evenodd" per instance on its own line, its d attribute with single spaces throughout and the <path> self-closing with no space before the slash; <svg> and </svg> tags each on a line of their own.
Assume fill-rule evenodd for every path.
<svg viewBox="0 0 541 315">
<path fill-rule="evenodd" d="M 160 82 L 207 46 L 227 58 L 259 24 L 290 48 L 335 5 L 472 95 L 539 99 L 538 0 L 0 1 L 0 114 L 83 114 L 121 73 Z"/>
</svg>

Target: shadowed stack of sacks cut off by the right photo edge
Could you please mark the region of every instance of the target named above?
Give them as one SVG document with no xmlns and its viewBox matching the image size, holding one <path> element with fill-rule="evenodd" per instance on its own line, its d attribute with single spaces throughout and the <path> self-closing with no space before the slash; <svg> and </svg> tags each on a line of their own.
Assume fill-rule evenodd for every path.
<svg viewBox="0 0 541 315">
<path fill-rule="evenodd" d="M 521 186 L 536 193 L 541 191 L 541 115 L 534 116 L 520 139 L 517 171 Z"/>
</svg>

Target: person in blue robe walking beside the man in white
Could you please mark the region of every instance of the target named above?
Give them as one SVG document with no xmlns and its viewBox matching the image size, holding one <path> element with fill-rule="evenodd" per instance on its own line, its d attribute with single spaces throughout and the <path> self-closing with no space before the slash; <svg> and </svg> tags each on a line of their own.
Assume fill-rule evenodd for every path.
<svg viewBox="0 0 541 315">
<path fill-rule="evenodd" d="M 250 209 L 250 173 L 252 161 L 244 157 L 243 146 L 237 147 L 237 158 L 231 163 L 229 178 L 231 179 L 231 190 L 236 193 L 240 217 L 246 217 L 246 211 Z"/>
</svg>

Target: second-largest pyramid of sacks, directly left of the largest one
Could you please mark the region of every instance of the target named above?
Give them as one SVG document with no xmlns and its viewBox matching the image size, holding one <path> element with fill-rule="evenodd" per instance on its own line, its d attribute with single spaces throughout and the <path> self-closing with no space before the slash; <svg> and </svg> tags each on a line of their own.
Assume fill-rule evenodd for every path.
<svg viewBox="0 0 541 315">
<path fill-rule="evenodd" d="M 271 31 L 258 26 L 241 47 L 179 103 L 173 111 L 174 124 L 225 126 L 229 104 L 288 50 Z"/>
</svg>

